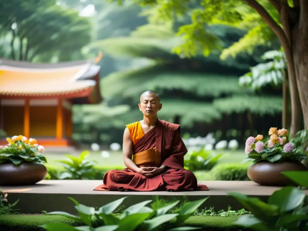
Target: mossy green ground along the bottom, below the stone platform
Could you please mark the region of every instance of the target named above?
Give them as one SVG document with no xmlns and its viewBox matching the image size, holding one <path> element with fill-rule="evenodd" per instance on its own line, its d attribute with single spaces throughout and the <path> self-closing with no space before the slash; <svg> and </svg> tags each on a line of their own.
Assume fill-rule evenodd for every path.
<svg viewBox="0 0 308 231">
<path fill-rule="evenodd" d="M 218 231 L 218 230 L 240 230 L 241 228 L 233 224 L 240 216 L 231 217 L 204 217 L 192 216 L 186 221 L 186 225 L 194 227 L 203 227 L 204 230 Z M 0 217 L 0 230 L 6 231 L 41 231 L 44 230 L 39 226 L 63 222 L 74 225 L 74 223 L 59 215 L 3 215 Z M 244 229 L 242 229 L 244 230 Z M 248 229 L 245 229 L 248 230 Z"/>
</svg>

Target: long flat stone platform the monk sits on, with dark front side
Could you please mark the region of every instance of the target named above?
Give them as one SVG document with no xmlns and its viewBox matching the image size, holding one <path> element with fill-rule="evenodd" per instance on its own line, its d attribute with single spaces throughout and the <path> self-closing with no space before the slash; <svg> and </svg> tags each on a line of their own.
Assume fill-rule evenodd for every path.
<svg viewBox="0 0 308 231">
<path fill-rule="evenodd" d="M 242 209 L 243 206 L 232 197 L 227 196 L 228 192 L 243 193 L 248 196 L 259 197 L 262 201 L 280 187 L 267 187 L 255 184 L 252 181 L 200 181 L 198 184 L 206 184 L 210 191 L 194 192 L 110 192 L 93 191 L 102 184 L 102 180 L 43 180 L 31 186 L 2 187 L 9 194 L 10 203 L 18 200 L 15 209 L 22 213 L 41 213 L 42 211 L 64 211 L 76 213 L 75 204 L 67 197 L 72 197 L 80 204 L 100 207 L 121 197 L 129 196 L 124 200 L 123 205 L 130 206 L 145 200 L 152 200 L 153 196 L 161 199 L 183 199 L 188 197 L 190 201 L 208 197 L 209 199 L 200 209 L 215 207 L 215 210 L 226 210 L 230 205 L 233 210 Z M 308 190 L 305 190 L 308 195 Z"/>
</svg>

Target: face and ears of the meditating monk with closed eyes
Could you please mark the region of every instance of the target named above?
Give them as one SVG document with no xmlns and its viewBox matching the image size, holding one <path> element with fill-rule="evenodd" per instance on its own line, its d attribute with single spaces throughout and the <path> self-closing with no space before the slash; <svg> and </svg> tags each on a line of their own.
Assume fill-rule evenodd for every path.
<svg viewBox="0 0 308 231">
<path fill-rule="evenodd" d="M 157 115 L 157 111 L 159 111 L 162 107 L 159 102 L 159 98 L 156 94 L 144 94 L 140 97 L 140 103 L 138 104 L 140 111 L 142 114 L 152 117 Z"/>
</svg>

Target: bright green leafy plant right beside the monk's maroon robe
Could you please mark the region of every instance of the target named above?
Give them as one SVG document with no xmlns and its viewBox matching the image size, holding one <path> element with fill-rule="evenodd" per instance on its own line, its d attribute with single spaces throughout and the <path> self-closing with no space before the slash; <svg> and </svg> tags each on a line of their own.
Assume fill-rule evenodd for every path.
<svg viewBox="0 0 308 231">
<path fill-rule="evenodd" d="M 189 159 L 184 160 L 184 166 L 190 171 L 210 170 L 224 157 L 222 153 L 214 155 L 213 152 L 204 148 L 199 151 L 190 151 L 186 155 Z"/>
</svg>

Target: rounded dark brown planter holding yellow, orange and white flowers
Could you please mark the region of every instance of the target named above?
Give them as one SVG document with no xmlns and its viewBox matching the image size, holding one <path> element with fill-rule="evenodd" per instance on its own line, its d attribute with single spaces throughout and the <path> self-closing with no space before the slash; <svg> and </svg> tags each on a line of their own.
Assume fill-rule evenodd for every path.
<svg viewBox="0 0 308 231">
<path fill-rule="evenodd" d="M 17 186 L 31 185 L 44 180 L 47 169 L 43 164 L 36 162 L 14 164 L 0 164 L 0 185 Z"/>
</svg>

